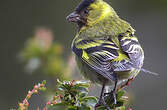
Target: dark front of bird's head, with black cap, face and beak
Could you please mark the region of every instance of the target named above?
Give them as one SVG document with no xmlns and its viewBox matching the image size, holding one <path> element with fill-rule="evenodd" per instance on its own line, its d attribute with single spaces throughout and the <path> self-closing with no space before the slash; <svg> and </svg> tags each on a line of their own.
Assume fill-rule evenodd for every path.
<svg viewBox="0 0 167 110">
<path fill-rule="evenodd" d="M 77 23 L 78 25 L 85 25 L 87 20 L 86 17 L 88 16 L 88 9 L 91 3 L 95 2 L 95 0 L 83 0 L 72 12 L 70 15 L 67 16 L 67 21 Z"/>
</svg>

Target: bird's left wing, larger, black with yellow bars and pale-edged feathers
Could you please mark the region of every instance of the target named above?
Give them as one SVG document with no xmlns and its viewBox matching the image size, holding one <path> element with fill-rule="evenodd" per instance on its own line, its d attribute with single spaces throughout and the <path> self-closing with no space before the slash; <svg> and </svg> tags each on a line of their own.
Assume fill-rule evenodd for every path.
<svg viewBox="0 0 167 110">
<path fill-rule="evenodd" d="M 118 57 L 119 48 L 108 38 L 75 40 L 73 52 L 97 73 L 114 80 L 111 60 Z"/>
</svg>

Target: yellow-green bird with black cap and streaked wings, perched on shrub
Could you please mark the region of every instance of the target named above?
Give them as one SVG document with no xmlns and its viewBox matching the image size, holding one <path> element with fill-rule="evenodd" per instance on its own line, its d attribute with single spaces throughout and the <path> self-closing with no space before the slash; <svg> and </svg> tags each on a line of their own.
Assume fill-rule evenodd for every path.
<svg viewBox="0 0 167 110">
<path fill-rule="evenodd" d="M 95 107 L 103 104 L 110 110 L 104 100 L 105 87 L 113 87 L 109 94 L 116 104 L 119 83 L 128 83 L 142 70 L 144 51 L 135 29 L 104 0 L 82 0 L 66 20 L 77 24 L 71 48 L 80 73 L 102 85 Z"/>
</svg>

